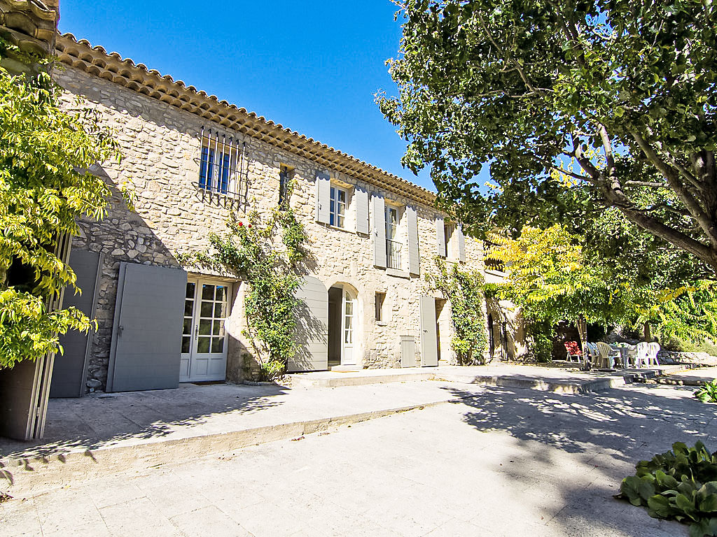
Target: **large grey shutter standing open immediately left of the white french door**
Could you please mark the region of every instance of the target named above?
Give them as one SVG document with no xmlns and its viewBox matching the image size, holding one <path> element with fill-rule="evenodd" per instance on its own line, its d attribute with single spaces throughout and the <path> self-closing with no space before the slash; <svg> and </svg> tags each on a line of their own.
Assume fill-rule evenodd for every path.
<svg viewBox="0 0 717 537">
<path fill-rule="evenodd" d="M 179 385 L 186 272 L 120 263 L 108 392 Z"/>
</svg>

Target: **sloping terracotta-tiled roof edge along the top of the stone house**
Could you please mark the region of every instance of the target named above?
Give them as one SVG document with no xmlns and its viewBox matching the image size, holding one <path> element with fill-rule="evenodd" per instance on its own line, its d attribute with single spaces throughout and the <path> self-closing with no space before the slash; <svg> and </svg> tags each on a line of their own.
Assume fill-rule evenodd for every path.
<svg viewBox="0 0 717 537">
<path fill-rule="evenodd" d="M 117 52 L 108 53 L 103 47 L 92 47 L 86 39 L 77 41 L 72 34 L 61 34 L 57 36 L 56 48 L 57 57 L 64 64 L 308 158 L 331 170 L 364 180 L 391 193 L 426 205 L 433 205 L 435 202 L 435 194 L 425 188 L 258 116 L 255 112 L 248 112 L 225 100 L 220 101 L 215 95 L 207 95 L 194 86 L 187 86 L 181 80 L 174 80 L 168 74 L 162 75 L 155 69 L 148 69 L 144 64 L 136 64 Z"/>
</svg>

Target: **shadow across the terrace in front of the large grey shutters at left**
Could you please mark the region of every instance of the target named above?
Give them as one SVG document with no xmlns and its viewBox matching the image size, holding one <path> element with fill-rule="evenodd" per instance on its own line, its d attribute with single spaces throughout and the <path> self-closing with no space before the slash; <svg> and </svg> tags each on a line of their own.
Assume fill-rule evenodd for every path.
<svg viewBox="0 0 717 537">
<path fill-rule="evenodd" d="M 51 453 L 94 450 L 123 440 L 153 440 L 172 435 L 226 430 L 233 417 L 281 404 L 288 388 L 180 384 L 174 390 L 118 392 L 49 402 L 43 440 L 22 442 L 0 437 L 0 458 L 34 458 Z"/>
</svg>

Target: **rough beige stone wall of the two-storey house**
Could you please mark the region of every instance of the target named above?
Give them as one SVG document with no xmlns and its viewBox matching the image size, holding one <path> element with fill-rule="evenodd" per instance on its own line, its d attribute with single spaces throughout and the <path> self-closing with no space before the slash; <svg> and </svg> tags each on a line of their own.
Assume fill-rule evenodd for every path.
<svg viewBox="0 0 717 537">
<path fill-rule="evenodd" d="M 317 170 L 324 168 L 313 161 L 252 137 L 226 132 L 245 143 L 246 158 L 241 173 L 247 181 L 247 196 L 245 200 L 237 201 L 209 195 L 197 187 L 201 130 L 217 125 L 209 125 L 189 112 L 77 69 L 62 69 L 54 73 L 54 78 L 69 94 L 81 95 L 87 106 L 97 110 L 103 124 L 115 131 L 123 155 L 120 162 L 103 163 L 97 170 L 113 188 L 107 218 L 101 223 L 80 222 L 82 235 L 74 242 L 75 248 L 105 253 L 97 313 L 99 331 L 90 359 L 90 382 L 99 382 L 103 387 L 106 380 L 120 261 L 179 266 L 177 253 L 206 248 L 207 234 L 224 231 L 229 213 L 240 219 L 246 218 L 250 211 L 268 216 L 278 203 L 281 165 L 293 168 L 295 188 L 290 204 L 310 238 L 308 272 L 317 276 L 327 289 L 334 284 L 346 284 L 357 291 L 359 326 L 356 342 L 359 348 L 356 352 L 359 352 L 359 364 L 363 367 L 399 367 L 399 337 L 403 335 L 416 337 L 419 352 L 419 296 L 435 294 L 429 292 L 422 277 L 432 270 L 436 253 L 435 217 L 440 213 L 435 208 L 417 205 L 409 198 L 326 170 L 331 173 L 332 181 L 361 186 L 369 193 L 378 192 L 387 202 L 400 206 L 417 206 L 422 276 L 409 277 L 396 272 L 397 275 L 391 275 L 391 271 L 374 267 L 371 236 L 351 231 L 355 222 L 355 204 L 348 206 L 346 229 L 315 221 L 315 175 Z M 71 95 L 67 95 L 66 102 L 68 107 L 74 106 Z M 119 188 L 128 188 L 136 194 L 136 213 L 128 211 Z M 403 230 L 405 220 L 404 211 Z M 466 265 L 482 269 L 480 243 L 471 238 L 466 238 L 465 243 Z M 202 272 L 193 267 L 185 269 L 191 273 Z M 228 371 L 234 380 L 240 379 L 241 355 L 250 348 L 241 336 L 239 288 L 237 282 L 234 308 L 227 321 L 227 330 L 232 336 Z M 376 323 L 374 319 L 376 291 L 386 293 L 385 311 L 390 312 L 382 323 Z M 444 310 L 450 312 L 450 304 L 446 304 Z M 452 353 L 445 352 L 445 342 L 450 341 L 450 334 L 443 333 L 446 326 L 450 327 L 450 323 L 443 321 L 442 359 L 450 362 Z"/>
</svg>

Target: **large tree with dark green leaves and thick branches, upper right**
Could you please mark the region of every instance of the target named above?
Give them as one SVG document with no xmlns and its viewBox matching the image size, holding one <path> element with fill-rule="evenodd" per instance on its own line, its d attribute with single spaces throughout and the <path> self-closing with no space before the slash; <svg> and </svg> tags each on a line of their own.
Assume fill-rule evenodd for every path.
<svg viewBox="0 0 717 537">
<path fill-rule="evenodd" d="M 470 231 L 612 207 L 717 271 L 715 4 L 399 5 L 399 96 L 377 101 Z"/>
</svg>

